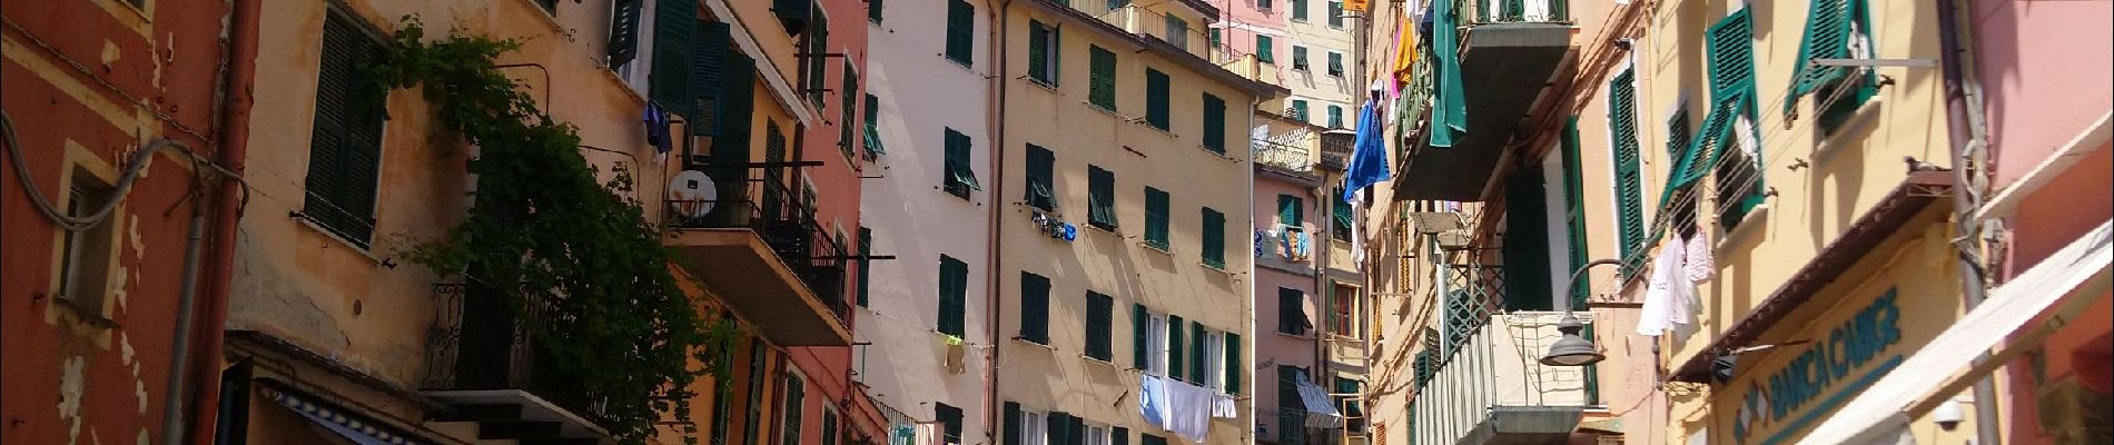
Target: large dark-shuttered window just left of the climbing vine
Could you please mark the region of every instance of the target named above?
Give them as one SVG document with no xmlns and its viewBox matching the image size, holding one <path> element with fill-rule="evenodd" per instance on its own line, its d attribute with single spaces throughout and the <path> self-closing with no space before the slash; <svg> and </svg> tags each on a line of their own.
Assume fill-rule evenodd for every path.
<svg viewBox="0 0 2114 445">
<path fill-rule="evenodd" d="M 353 15 L 328 11 L 302 217 L 366 249 L 374 236 L 374 183 L 381 175 L 387 97 L 366 95 L 368 76 L 359 72 L 381 63 L 383 40 Z"/>
</svg>

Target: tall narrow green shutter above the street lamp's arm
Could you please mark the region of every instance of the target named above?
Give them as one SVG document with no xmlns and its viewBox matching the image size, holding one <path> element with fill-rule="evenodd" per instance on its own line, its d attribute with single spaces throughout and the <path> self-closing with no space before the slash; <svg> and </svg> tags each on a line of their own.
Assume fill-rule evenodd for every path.
<svg viewBox="0 0 2114 445">
<path fill-rule="evenodd" d="M 1624 70 L 1609 80 L 1607 129 L 1615 143 L 1615 209 L 1621 257 L 1645 249 L 1645 179 L 1643 154 L 1636 143 L 1636 70 Z"/>
</svg>

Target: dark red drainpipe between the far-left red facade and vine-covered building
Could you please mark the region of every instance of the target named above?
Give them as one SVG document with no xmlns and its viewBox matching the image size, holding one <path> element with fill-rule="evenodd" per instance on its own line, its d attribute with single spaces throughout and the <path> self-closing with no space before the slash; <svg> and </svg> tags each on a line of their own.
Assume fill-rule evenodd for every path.
<svg viewBox="0 0 2114 445">
<path fill-rule="evenodd" d="M 222 333 L 226 333 L 228 318 L 228 280 L 235 274 L 235 238 L 237 221 L 241 219 L 243 194 L 243 160 L 249 152 L 249 105 L 256 103 L 256 57 L 258 57 L 258 23 L 260 23 L 262 0 L 235 0 L 230 2 L 228 21 L 228 61 L 222 67 L 222 95 L 224 103 L 220 110 L 220 165 L 230 177 L 220 181 L 218 198 L 214 209 L 214 245 L 209 257 L 214 257 L 214 274 L 205 280 L 205 308 L 203 308 L 203 329 L 192 337 L 199 356 L 203 356 L 194 369 L 190 369 L 192 382 L 197 384 L 197 396 L 192 409 L 199 413 L 190 420 L 190 443 L 211 443 L 216 441 L 214 424 L 220 422 L 220 356 L 222 356 Z M 188 274 L 186 274 L 188 276 Z M 188 278 L 186 278 L 188 280 Z M 186 287 L 188 291 L 190 287 Z M 190 306 L 186 306 L 190 308 Z M 186 361 L 178 356 L 180 365 Z M 182 375 L 182 367 L 171 367 L 171 373 Z M 169 388 L 169 401 L 175 405 L 180 388 Z M 171 418 L 180 420 L 180 418 Z M 163 437 L 175 443 L 180 430 L 178 422 L 167 422 L 163 426 Z"/>
</svg>

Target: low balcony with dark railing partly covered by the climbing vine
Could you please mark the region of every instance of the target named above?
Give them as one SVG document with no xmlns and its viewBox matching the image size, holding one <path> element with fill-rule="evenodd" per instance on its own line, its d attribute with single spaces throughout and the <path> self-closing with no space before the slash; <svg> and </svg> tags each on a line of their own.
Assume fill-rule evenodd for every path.
<svg viewBox="0 0 2114 445">
<path fill-rule="evenodd" d="M 448 405 L 433 424 L 467 424 L 480 441 L 611 443 L 602 396 L 548 369 L 533 331 L 548 299 L 516 308 L 482 285 L 433 285 L 440 297 L 419 394 Z"/>
</svg>

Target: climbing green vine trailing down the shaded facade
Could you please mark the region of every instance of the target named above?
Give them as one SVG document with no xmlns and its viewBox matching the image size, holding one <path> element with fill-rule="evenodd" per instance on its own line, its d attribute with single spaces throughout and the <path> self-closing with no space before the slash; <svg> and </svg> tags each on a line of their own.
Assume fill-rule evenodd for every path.
<svg viewBox="0 0 2114 445">
<path fill-rule="evenodd" d="M 469 215 L 406 255 L 539 321 L 524 323 L 537 382 L 575 409 L 592 405 L 586 415 L 622 443 L 645 443 L 655 422 L 691 418 L 700 375 L 727 375 L 734 323 L 704 321 L 683 295 L 641 202 L 613 192 L 630 190 L 630 175 L 596 181 L 579 133 L 499 72 L 495 59 L 516 49 L 461 32 L 427 42 L 404 17 L 372 67 L 372 93 L 423 86 L 440 127 L 480 150 Z M 681 432 L 696 443 L 696 426 Z"/>
</svg>

